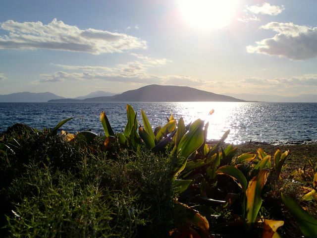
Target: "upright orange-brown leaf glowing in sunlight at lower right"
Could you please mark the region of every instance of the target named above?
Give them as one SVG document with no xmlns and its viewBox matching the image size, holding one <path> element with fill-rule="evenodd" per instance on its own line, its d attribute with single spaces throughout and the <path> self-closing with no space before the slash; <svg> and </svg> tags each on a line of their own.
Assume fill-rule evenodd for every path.
<svg viewBox="0 0 317 238">
<path fill-rule="evenodd" d="M 254 223 L 262 205 L 261 192 L 269 174 L 268 169 L 263 169 L 251 179 L 246 191 L 246 222 Z"/>
</svg>

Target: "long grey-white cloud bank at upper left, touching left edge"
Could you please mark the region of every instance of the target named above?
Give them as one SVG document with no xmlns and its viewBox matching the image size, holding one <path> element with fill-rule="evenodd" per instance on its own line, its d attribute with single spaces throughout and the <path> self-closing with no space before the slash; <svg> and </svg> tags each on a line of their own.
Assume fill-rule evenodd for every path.
<svg viewBox="0 0 317 238">
<path fill-rule="evenodd" d="M 0 23 L 0 29 L 9 35 L 0 36 L 0 49 L 50 49 L 86 52 L 94 55 L 147 48 L 146 41 L 124 33 L 97 29 L 79 29 L 56 18 L 45 25 L 37 22 Z"/>
</svg>

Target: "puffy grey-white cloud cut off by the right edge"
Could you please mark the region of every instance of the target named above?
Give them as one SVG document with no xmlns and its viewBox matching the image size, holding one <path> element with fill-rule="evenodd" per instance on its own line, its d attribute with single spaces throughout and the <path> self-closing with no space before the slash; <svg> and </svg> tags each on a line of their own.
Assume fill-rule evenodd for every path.
<svg viewBox="0 0 317 238">
<path fill-rule="evenodd" d="M 317 27 L 295 25 L 292 22 L 270 22 L 261 29 L 272 30 L 277 34 L 247 46 L 248 53 L 261 53 L 270 56 L 286 57 L 291 60 L 306 60 L 317 56 Z"/>
</svg>

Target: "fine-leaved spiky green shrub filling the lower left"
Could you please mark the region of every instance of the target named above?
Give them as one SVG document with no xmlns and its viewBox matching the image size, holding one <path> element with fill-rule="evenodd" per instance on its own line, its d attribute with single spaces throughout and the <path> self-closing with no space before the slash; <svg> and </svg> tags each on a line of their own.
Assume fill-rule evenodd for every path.
<svg viewBox="0 0 317 238">
<path fill-rule="evenodd" d="M 1 237 L 166 237 L 179 220 L 166 156 L 28 127 L 2 141 L 16 146 L 1 158 Z"/>
</svg>

